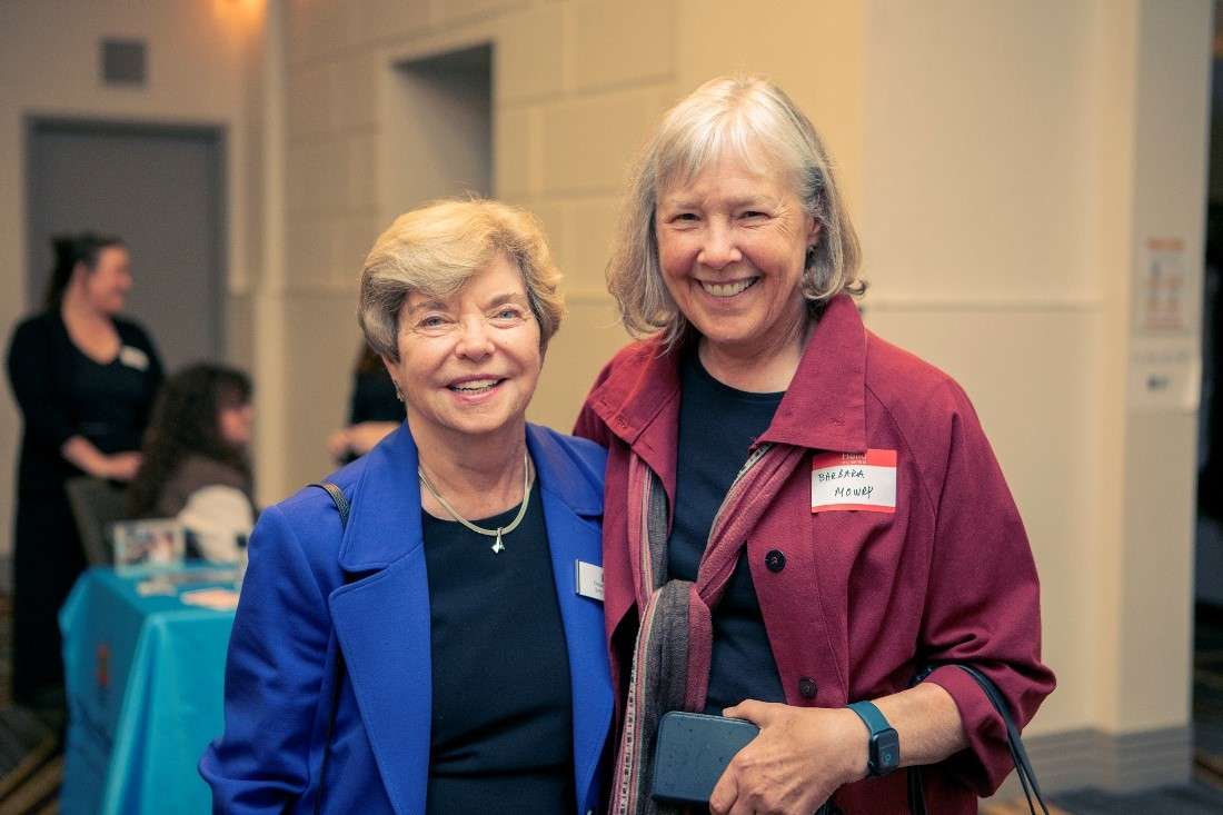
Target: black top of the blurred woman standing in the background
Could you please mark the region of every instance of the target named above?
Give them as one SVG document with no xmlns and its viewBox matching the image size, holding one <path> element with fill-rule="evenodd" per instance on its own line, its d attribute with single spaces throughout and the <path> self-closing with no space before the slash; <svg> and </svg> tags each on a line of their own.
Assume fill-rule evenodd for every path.
<svg viewBox="0 0 1223 815">
<path fill-rule="evenodd" d="M 103 453 L 139 450 L 161 387 L 161 360 L 144 330 L 115 319 L 121 350 L 103 365 L 68 337 L 59 312 L 26 319 L 9 346 L 9 379 L 24 419 L 20 487 L 54 488 L 81 475 L 60 455 L 72 436 Z"/>
</svg>

